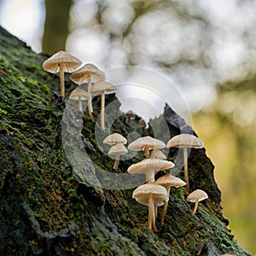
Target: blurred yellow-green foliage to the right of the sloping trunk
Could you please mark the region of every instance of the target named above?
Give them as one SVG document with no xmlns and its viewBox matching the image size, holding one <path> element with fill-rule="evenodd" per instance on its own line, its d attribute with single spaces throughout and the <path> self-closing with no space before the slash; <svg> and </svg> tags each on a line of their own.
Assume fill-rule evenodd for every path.
<svg viewBox="0 0 256 256">
<path fill-rule="evenodd" d="M 224 215 L 241 246 L 256 252 L 256 77 L 218 87 L 218 100 L 195 113 L 194 127 L 216 166 Z"/>
</svg>

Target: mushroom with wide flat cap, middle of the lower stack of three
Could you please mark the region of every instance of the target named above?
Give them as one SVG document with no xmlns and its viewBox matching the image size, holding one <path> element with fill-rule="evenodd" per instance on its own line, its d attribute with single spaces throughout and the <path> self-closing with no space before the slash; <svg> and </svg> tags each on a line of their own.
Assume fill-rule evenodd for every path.
<svg viewBox="0 0 256 256">
<path fill-rule="evenodd" d="M 174 166 L 171 161 L 160 159 L 144 159 L 137 164 L 131 165 L 127 172 L 130 173 L 144 173 L 146 175 L 146 182 L 154 183 L 154 174 L 159 171 L 170 169 Z"/>
</svg>

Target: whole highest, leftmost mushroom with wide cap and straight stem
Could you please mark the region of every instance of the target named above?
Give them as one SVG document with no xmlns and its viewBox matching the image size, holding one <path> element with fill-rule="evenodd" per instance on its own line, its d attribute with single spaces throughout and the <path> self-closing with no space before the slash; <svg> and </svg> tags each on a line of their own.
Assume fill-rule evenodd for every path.
<svg viewBox="0 0 256 256">
<path fill-rule="evenodd" d="M 43 68 L 49 73 L 60 73 L 61 80 L 61 96 L 65 97 L 64 72 L 72 73 L 80 65 L 81 61 L 66 51 L 58 51 L 55 55 L 44 61 Z"/>
</svg>

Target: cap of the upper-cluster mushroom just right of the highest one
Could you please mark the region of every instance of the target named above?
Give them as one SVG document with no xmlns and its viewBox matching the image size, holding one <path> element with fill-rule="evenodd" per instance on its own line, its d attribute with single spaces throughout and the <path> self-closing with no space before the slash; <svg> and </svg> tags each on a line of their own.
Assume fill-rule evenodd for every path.
<svg viewBox="0 0 256 256">
<path fill-rule="evenodd" d="M 76 72 L 71 74 L 69 79 L 71 79 L 76 84 L 83 84 L 91 78 L 94 81 L 99 81 L 105 79 L 105 75 L 98 67 L 92 63 L 84 64 Z"/>
</svg>

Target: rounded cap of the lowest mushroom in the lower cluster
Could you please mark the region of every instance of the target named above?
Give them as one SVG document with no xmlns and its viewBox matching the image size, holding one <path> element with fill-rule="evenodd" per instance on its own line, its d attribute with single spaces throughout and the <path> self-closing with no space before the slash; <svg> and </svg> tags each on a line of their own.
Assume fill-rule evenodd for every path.
<svg viewBox="0 0 256 256">
<path fill-rule="evenodd" d="M 160 207 L 164 201 L 168 201 L 166 188 L 154 183 L 140 185 L 132 193 L 132 198 L 144 206 L 148 206 L 150 196 L 154 199 L 154 204 Z"/>
</svg>

